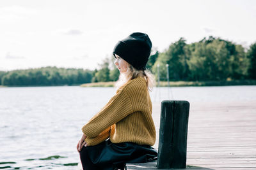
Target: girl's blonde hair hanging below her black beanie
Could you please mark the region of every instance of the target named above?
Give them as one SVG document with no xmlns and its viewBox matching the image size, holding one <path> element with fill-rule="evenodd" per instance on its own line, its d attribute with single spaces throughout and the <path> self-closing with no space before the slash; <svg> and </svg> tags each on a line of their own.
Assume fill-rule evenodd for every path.
<svg viewBox="0 0 256 170">
<path fill-rule="evenodd" d="M 138 70 L 132 67 L 131 64 L 129 64 L 125 73 L 120 73 L 119 78 L 116 81 L 115 87 L 119 88 L 127 83 L 127 81 L 138 78 L 139 76 L 145 78 L 148 90 L 152 91 L 156 83 L 154 74 L 152 74 L 148 69 Z"/>
</svg>

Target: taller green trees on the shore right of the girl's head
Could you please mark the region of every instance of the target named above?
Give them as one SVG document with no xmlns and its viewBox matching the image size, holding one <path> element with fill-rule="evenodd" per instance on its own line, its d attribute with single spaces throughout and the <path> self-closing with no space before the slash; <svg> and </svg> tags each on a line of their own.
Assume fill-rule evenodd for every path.
<svg viewBox="0 0 256 170">
<path fill-rule="evenodd" d="M 255 79 L 256 43 L 246 51 L 242 45 L 220 38 L 204 38 L 187 44 L 184 38 L 157 54 L 152 71 L 166 80 L 166 64 L 170 80 L 244 80 Z"/>
</svg>

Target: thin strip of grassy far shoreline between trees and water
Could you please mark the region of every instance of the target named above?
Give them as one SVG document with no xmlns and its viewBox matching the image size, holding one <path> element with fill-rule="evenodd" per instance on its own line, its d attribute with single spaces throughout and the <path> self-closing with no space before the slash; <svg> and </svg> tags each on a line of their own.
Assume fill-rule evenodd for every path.
<svg viewBox="0 0 256 170">
<path fill-rule="evenodd" d="M 256 85 L 256 80 L 232 80 L 232 81 L 170 81 L 170 87 L 204 87 L 204 86 L 231 86 L 231 85 Z M 59 86 L 80 86 L 80 87 L 115 87 L 115 81 L 84 83 L 76 85 L 27 85 L 27 86 L 4 86 L 1 87 L 59 87 Z M 157 86 L 157 83 L 156 83 Z M 167 81 L 160 81 L 159 87 L 168 87 Z"/>
</svg>

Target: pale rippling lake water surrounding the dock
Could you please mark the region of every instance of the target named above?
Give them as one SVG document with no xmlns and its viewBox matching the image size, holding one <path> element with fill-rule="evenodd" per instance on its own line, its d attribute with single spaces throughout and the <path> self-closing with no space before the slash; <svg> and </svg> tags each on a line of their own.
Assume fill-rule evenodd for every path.
<svg viewBox="0 0 256 170">
<path fill-rule="evenodd" d="M 0 169 L 77 169 L 81 127 L 115 94 L 113 87 L 0 88 Z M 150 92 L 193 102 L 256 101 L 256 86 L 166 87 Z M 172 97 L 173 96 L 173 97 Z"/>
</svg>

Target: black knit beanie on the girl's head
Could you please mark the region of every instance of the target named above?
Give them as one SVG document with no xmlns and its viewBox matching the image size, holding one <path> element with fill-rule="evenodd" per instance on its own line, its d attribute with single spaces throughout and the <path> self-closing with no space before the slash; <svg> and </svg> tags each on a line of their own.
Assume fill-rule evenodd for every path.
<svg viewBox="0 0 256 170">
<path fill-rule="evenodd" d="M 152 43 L 147 34 L 134 32 L 116 43 L 113 55 L 120 56 L 138 70 L 145 70 L 151 47 Z"/>
</svg>

